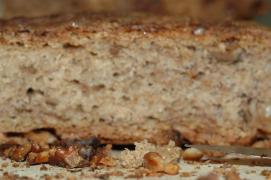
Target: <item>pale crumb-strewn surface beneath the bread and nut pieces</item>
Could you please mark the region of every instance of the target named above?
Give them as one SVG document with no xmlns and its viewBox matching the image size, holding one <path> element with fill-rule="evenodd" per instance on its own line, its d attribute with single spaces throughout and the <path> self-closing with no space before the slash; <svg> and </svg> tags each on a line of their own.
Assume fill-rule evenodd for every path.
<svg viewBox="0 0 271 180">
<path fill-rule="evenodd" d="M 118 154 L 119 152 L 114 152 Z M 234 156 L 236 157 L 236 155 Z M 229 157 L 228 157 L 229 158 Z M 231 157 L 230 157 L 231 158 Z M 197 179 L 200 176 L 204 176 L 210 172 L 226 172 L 231 169 L 236 169 L 236 172 L 239 173 L 241 179 L 257 179 L 265 180 L 266 176 L 262 175 L 263 172 L 271 174 L 271 159 L 270 166 L 249 166 L 249 165 L 238 165 L 238 164 L 214 164 L 214 163 L 199 163 L 193 162 L 188 163 L 183 160 L 180 161 L 180 171 L 176 176 L 164 175 L 159 179 L 162 180 L 174 180 L 174 179 Z M 45 168 L 46 167 L 46 168 Z M 46 170 L 44 170 L 46 169 Z M 124 176 L 111 176 L 110 179 L 120 180 L 127 179 L 125 176 L 131 174 L 131 170 L 117 168 L 117 171 L 123 172 Z M 9 175 L 17 175 L 19 177 L 28 177 L 33 179 L 45 179 L 46 176 L 51 177 L 60 177 L 61 179 L 74 178 L 74 179 L 89 179 L 94 177 L 104 177 L 105 174 L 110 172 L 116 172 L 115 168 L 109 169 L 96 169 L 92 170 L 91 168 L 83 169 L 73 169 L 68 170 L 60 167 L 54 167 L 50 165 L 36 165 L 36 166 L 27 166 L 26 163 L 17 163 L 11 162 L 9 160 L 3 160 L 0 158 L 0 177 L 4 173 Z M 187 174 L 190 174 L 188 177 Z M 145 179 L 157 179 L 157 177 L 148 177 Z M 224 179 L 220 176 L 220 179 Z"/>
</svg>

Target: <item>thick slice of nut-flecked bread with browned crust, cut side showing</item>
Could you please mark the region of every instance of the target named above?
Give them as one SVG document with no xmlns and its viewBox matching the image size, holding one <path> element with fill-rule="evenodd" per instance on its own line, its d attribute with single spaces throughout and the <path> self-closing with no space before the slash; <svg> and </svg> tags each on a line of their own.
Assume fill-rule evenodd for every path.
<svg viewBox="0 0 271 180">
<path fill-rule="evenodd" d="M 77 14 L 0 32 L 0 133 L 243 145 L 271 133 L 270 29 Z"/>
</svg>

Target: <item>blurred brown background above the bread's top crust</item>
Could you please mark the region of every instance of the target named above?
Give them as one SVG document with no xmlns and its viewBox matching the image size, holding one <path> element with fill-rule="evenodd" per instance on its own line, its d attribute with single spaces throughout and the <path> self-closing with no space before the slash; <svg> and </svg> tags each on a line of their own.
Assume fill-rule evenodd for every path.
<svg viewBox="0 0 271 180">
<path fill-rule="evenodd" d="M 132 11 L 205 21 L 255 20 L 271 26 L 271 0 L 0 0 L 0 16 L 40 17 L 74 12 Z"/>
</svg>

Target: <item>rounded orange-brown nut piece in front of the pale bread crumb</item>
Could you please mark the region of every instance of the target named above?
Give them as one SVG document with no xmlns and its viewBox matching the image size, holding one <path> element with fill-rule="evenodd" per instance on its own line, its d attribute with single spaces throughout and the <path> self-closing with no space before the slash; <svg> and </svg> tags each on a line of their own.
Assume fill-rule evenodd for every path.
<svg viewBox="0 0 271 180">
<path fill-rule="evenodd" d="M 164 160 L 160 154 L 156 152 L 149 152 L 144 155 L 143 165 L 145 168 L 152 170 L 154 172 L 164 171 Z"/>
</svg>

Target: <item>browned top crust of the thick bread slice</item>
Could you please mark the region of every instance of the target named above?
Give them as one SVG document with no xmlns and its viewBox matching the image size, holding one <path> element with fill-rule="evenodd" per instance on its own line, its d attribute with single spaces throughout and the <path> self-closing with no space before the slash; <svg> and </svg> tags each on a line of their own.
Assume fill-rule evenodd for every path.
<svg viewBox="0 0 271 180">
<path fill-rule="evenodd" d="M 168 38 L 178 36 L 193 38 L 199 42 L 238 39 L 268 47 L 271 38 L 269 28 L 252 22 L 212 24 L 186 17 L 93 13 L 1 20 L 0 33 L 2 44 L 17 43 L 33 47 L 49 45 L 49 42 L 80 45 L 80 37 L 91 39 L 94 34 L 109 38 L 126 35 Z"/>
</svg>

